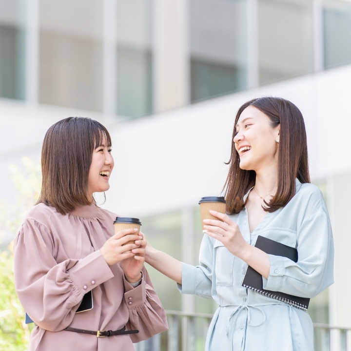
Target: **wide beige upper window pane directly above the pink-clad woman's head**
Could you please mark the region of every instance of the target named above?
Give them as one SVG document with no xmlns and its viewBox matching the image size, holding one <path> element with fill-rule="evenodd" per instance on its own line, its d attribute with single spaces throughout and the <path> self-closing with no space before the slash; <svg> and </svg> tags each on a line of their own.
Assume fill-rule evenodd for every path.
<svg viewBox="0 0 351 351">
<path fill-rule="evenodd" d="M 102 110 L 102 5 L 40 1 L 41 103 Z"/>
</svg>

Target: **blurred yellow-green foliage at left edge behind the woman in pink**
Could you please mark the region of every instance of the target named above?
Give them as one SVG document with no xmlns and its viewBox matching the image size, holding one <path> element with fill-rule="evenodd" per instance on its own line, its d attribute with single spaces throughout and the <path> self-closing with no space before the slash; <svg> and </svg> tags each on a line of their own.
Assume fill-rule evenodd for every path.
<svg viewBox="0 0 351 351">
<path fill-rule="evenodd" d="M 28 157 L 22 159 L 24 171 L 11 164 L 9 171 L 14 182 L 16 205 L 9 207 L 0 202 L 0 241 L 15 238 L 26 212 L 39 196 L 40 167 Z M 15 291 L 13 274 L 13 243 L 0 251 L 0 350 L 24 351 L 28 348 L 33 324 L 24 323 L 24 310 Z"/>
</svg>

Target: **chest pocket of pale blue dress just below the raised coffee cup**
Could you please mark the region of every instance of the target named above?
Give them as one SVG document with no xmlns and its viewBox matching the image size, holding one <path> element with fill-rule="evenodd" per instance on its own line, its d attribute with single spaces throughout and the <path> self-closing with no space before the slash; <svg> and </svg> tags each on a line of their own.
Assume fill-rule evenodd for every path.
<svg viewBox="0 0 351 351">
<path fill-rule="evenodd" d="M 233 267 L 235 256 L 234 254 L 231 254 L 224 244 L 218 240 L 215 240 L 214 248 L 216 250 L 216 285 L 233 286 Z"/>
</svg>

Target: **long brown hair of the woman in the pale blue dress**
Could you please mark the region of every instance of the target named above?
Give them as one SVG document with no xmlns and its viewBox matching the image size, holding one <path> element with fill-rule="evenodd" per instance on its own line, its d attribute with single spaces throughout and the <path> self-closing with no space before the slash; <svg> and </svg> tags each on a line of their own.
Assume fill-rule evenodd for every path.
<svg viewBox="0 0 351 351">
<path fill-rule="evenodd" d="M 270 119 L 272 128 L 280 124 L 280 141 L 278 154 L 278 184 L 271 201 L 263 209 L 274 212 L 284 207 L 295 195 L 295 178 L 301 183 L 310 183 L 307 155 L 307 137 L 305 123 L 300 110 L 290 101 L 283 98 L 256 98 L 244 103 L 238 110 L 232 137 L 232 152 L 228 162 L 229 173 L 224 184 L 227 200 L 226 212 L 230 215 L 239 213 L 244 207 L 244 195 L 254 186 L 254 171 L 242 170 L 240 158 L 235 149 L 235 125 L 241 113 L 254 106 Z"/>
</svg>

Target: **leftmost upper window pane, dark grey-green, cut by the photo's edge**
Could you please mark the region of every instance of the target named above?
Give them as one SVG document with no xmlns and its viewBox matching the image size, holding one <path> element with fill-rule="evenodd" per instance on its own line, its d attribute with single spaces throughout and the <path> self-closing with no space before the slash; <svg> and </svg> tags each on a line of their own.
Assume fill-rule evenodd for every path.
<svg viewBox="0 0 351 351">
<path fill-rule="evenodd" d="M 0 97 L 24 99 L 25 2 L 0 0 Z"/>
</svg>

